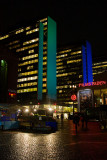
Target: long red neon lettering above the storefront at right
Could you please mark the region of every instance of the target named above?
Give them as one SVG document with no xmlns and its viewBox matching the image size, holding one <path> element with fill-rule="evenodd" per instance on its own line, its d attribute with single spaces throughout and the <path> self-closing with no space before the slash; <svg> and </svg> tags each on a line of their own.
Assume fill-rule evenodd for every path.
<svg viewBox="0 0 107 160">
<path fill-rule="evenodd" d="M 86 87 L 86 86 L 102 86 L 106 85 L 106 81 L 97 81 L 97 82 L 89 82 L 89 83 L 79 83 L 79 87 Z"/>
</svg>

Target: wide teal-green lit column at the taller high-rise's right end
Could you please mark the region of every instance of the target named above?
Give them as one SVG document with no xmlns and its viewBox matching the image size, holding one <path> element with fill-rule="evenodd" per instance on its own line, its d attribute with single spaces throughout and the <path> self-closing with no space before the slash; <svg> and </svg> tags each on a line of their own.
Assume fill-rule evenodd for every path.
<svg viewBox="0 0 107 160">
<path fill-rule="evenodd" d="M 56 22 L 48 17 L 47 32 L 47 94 L 56 100 Z"/>
</svg>

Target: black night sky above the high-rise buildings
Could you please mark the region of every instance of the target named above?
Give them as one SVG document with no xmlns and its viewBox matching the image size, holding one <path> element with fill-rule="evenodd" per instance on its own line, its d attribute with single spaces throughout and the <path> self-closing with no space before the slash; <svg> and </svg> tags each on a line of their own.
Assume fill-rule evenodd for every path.
<svg viewBox="0 0 107 160">
<path fill-rule="evenodd" d="M 46 16 L 57 22 L 58 46 L 89 40 L 93 57 L 107 57 L 106 0 L 0 0 L 0 35 Z"/>
</svg>

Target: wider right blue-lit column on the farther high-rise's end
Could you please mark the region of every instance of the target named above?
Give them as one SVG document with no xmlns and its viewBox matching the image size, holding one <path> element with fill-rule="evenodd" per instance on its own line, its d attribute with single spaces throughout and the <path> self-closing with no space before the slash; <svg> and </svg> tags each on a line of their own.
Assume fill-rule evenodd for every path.
<svg viewBox="0 0 107 160">
<path fill-rule="evenodd" d="M 88 41 L 86 41 L 87 48 L 87 75 L 88 82 L 93 82 L 93 74 L 92 74 L 92 53 L 91 53 L 91 45 Z"/>
</svg>

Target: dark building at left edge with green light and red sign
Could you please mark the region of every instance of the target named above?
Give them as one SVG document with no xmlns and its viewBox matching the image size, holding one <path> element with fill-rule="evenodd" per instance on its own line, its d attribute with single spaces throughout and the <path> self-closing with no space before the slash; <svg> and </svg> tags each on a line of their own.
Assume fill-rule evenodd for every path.
<svg viewBox="0 0 107 160">
<path fill-rule="evenodd" d="M 17 64 L 17 56 L 0 46 L 0 103 L 17 102 Z"/>
</svg>

